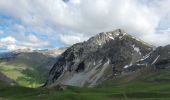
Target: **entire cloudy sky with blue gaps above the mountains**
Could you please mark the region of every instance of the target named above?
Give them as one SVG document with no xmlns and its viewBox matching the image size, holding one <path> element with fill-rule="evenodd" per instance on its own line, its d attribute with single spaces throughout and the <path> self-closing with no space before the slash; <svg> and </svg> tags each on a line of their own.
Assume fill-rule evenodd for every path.
<svg viewBox="0 0 170 100">
<path fill-rule="evenodd" d="M 117 28 L 170 44 L 170 0 L 0 0 L 0 51 L 72 45 Z"/>
</svg>

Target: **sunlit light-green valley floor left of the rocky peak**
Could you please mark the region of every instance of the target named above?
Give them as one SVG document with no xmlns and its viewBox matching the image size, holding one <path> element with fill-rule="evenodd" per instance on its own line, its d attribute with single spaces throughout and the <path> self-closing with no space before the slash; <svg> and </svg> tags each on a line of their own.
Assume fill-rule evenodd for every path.
<svg viewBox="0 0 170 100">
<path fill-rule="evenodd" d="M 44 70 L 44 71 L 42 71 Z M 26 65 L 13 65 L 0 62 L 0 71 L 9 78 L 18 82 L 21 86 L 25 87 L 39 87 L 41 86 L 46 78 L 46 69 L 40 69 L 39 67 L 28 67 Z"/>
</svg>

